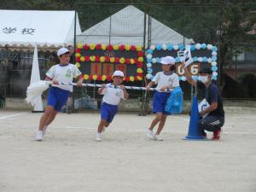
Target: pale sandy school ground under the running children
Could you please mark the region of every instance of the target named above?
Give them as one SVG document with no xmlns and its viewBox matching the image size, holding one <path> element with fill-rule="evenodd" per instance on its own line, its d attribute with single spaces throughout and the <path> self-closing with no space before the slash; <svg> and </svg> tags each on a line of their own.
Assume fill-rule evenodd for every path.
<svg viewBox="0 0 256 192">
<path fill-rule="evenodd" d="M 184 141 L 189 116 L 169 117 L 156 142 L 153 115 L 119 113 L 102 143 L 98 113 L 60 113 L 36 142 L 40 115 L 0 111 L 0 192 L 256 191 L 255 114 L 228 113 L 218 142 Z"/>
</svg>

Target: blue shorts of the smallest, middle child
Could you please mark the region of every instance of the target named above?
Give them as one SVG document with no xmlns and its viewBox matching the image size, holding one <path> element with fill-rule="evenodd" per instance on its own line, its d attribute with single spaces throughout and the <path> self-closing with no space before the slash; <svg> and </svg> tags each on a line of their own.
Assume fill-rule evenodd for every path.
<svg viewBox="0 0 256 192">
<path fill-rule="evenodd" d="M 110 105 L 106 102 L 102 103 L 101 108 L 101 116 L 102 120 L 106 120 L 108 123 L 111 123 L 113 120 L 114 115 L 118 112 L 117 105 Z"/>
</svg>

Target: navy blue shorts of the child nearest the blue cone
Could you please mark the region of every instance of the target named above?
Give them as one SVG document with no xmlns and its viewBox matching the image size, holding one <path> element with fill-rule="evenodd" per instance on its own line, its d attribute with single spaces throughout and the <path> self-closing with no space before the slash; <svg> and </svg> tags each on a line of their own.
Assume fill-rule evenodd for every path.
<svg viewBox="0 0 256 192">
<path fill-rule="evenodd" d="M 153 96 L 153 113 L 169 114 L 165 111 L 170 93 L 155 91 Z"/>
</svg>

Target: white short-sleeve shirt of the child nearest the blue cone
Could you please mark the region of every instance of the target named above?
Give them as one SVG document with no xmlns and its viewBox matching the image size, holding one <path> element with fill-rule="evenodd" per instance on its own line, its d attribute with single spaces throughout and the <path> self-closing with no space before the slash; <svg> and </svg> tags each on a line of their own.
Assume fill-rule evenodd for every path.
<svg viewBox="0 0 256 192">
<path fill-rule="evenodd" d="M 179 80 L 177 73 L 172 73 L 170 75 L 166 75 L 164 72 L 156 73 L 154 76 L 154 79 L 152 79 L 155 84 L 157 84 L 156 89 L 160 91 L 160 88 L 163 86 L 168 87 L 178 87 L 179 86 Z"/>
</svg>

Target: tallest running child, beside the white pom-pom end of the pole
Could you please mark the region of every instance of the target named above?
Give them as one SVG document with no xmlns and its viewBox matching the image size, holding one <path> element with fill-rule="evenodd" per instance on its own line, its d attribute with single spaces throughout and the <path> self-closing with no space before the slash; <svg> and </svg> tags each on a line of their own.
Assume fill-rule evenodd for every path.
<svg viewBox="0 0 256 192">
<path fill-rule="evenodd" d="M 39 128 L 36 134 L 36 140 L 42 141 L 48 125 L 55 119 L 58 112 L 61 112 L 62 106 L 67 102 L 70 91 L 73 91 L 73 86 L 58 85 L 59 82 L 72 83 L 73 78 L 79 78 L 78 86 L 82 86 L 83 76 L 78 67 L 70 64 L 70 51 L 66 48 L 58 49 L 57 55 L 60 64 L 57 64 L 49 69 L 46 73 L 45 80 L 53 81 L 53 85 L 48 92 L 48 101 L 45 112 L 40 119 Z"/>
</svg>

